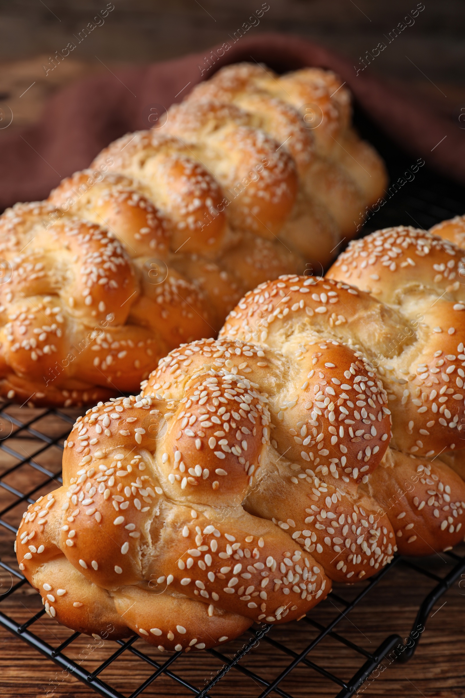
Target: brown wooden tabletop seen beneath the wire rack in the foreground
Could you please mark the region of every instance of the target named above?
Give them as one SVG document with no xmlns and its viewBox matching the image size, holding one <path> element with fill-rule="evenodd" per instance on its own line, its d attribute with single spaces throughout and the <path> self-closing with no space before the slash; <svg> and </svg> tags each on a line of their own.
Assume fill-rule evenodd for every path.
<svg viewBox="0 0 465 698">
<path fill-rule="evenodd" d="M 49 438 L 65 438 L 69 426 L 63 419 L 53 415 L 43 415 L 43 410 L 10 407 L 7 413 L 22 422 L 36 419 L 33 429 L 44 433 Z M 73 417 L 75 413 L 63 410 Z M 10 433 L 11 431 L 11 433 Z M 10 436 L 8 436 L 10 434 Z M 51 480 L 43 487 L 41 483 L 48 480 L 44 473 L 58 473 L 61 450 L 56 445 L 45 445 L 37 433 L 21 431 L 0 417 L 0 484 L 16 491 L 37 489 L 34 498 L 56 487 L 56 480 Z M 6 447 L 6 448 L 5 448 Z M 9 452 L 6 451 L 8 449 Z M 17 456 L 15 456 L 17 454 Z M 30 459 L 30 460 L 28 460 Z M 24 461 L 24 462 L 23 462 Z M 16 467 L 15 467 L 16 466 Z M 13 470 L 10 470 L 14 468 Z M 24 510 L 24 504 L 17 502 L 17 496 L 0 487 L 0 511 L 13 505 L 1 519 L 12 526 L 17 526 Z M 0 557 L 17 569 L 13 554 L 13 533 L 0 526 Z M 465 554 L 465 545 L 457 550 Z M 437 554 L 423 563 L 430 571 L 443 577 L 451 569 L 447 556 Z M 0 574 L 0 611 L 18 623 L 24 623 L 41 608 L 39 595 L 29 586 L 5 597 L 12 584 L 10 574 Z M 418 605 L 433 588 L 434 581 L 418 574 L 400 564 L 386 574 L 378 586 L 375 586 L 365 599 L 351 611 L 339 625 L 337 632 L 354 644 L 373 652 L 390 634 L 399 634 L 406 638 L 416 617 Z M 347 600 L 353 599 L 362 586 L 335 586 L 335 594 Z M 326 602 L 317 606 L 310 614 L 312 620 L 326 625 L 337 616 L 344 607 L 331 595 Z M 410 698 L 463 698 L 465 695 L 465 575 L 462 582 L 457 580 L 450 591 L 436 604 L 429 618 L 425 632 L 422 633 L 420 645 L 413 659 L 407 664 L 398 664 L 388 658 L 374 672 L 372 679 L 360 688 L 358 695 L 364 698 L 393 696 Z M 52 618 L 43 616 L 31 626 L 31 630 L 53 647 L 59 646 L 70 637 L 70 630 L 56 623 Z M 305 620 L 290 623 L 273 629 L 266 639 L 262 639 L 253 650 L 240 662 L 241 667 L 253 671 L 266 681 L 278 676 L 292 660 L 292 653 L 300 653 L 317 636 L 310 623 Z M 250 632 L 240 639 L 222 646 L 222 653 L 232 658 L 250 638 Z M 274 644 L 273 644 L 274 643 Z M 282 650 L 282 646 L 291 655 Z M 92 638 L 79 636 L 66 648 L 64 653 L 88 671 L 93 671 L 99 664 L 109 658 L 119 646 L 112 641 L 97 642 Z M 169 655 L 161 654 L 148 646 L 141 639 L 132 645 L 135 651 L 145 653 L 155 662 L 169 661 Z M 347 681 L 364 662 L 363 656 L 339 641 L 327 637 L 308 655 L 308 659 L 335 676 Z M 222 668 L 218 658 L 206 652 L 181 655 L 169 671 L 187 681 L 197 690 L 201 690 Z M 100 678 L 122 695 L 129 696 L 139 685 L 146 681 L 155 669 L 135 653 L 125 651 L 107 669 Z M 300 664 L 282 681 L 280 688 L 293 698 L 320 698 L 337 695 L 338 688 L 327 678 L 321 676 L 311 667 Z M 212 698 L 254 698 L 262 690 L 258 681 L 231 669 L 218 685 L 209 692 Z M 59 667 L 40 655 L 22 639 L 13 636 L 8 630 L 0 628 L 0 696 L 2 698 L 61 698 L 95 696 L 86 685 L 73 676 L 61 671 Z M 181 683 L 166 674 L 160 676 L 144 690 L 144 697 L 168 698 L 171 696 L 188 697 L 192 692 Z M 278 695 L 272 692 L 270 695 Z"/>
</svg>

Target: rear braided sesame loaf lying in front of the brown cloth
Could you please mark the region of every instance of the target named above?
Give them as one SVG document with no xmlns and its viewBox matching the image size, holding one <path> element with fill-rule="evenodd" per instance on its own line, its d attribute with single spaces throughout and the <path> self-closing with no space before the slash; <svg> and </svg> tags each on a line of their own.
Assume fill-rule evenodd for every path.
<svg viewBox="0 0 465 698">
<path fill-rule="evenodd" d="M 0 395 L 70 406 L 135 391 L 247 289 L 322 270 L 385 184 L 333 73 L 223 68 L 162 129 L 1 216 Z"/>
</svg>

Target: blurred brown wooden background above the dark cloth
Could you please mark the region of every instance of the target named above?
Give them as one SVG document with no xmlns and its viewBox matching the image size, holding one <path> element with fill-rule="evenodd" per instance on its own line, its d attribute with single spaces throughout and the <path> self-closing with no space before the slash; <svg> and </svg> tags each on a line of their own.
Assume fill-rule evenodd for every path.
<svg viewBox="0 0 465 698">
<path fill-rule="evenodd" d="M 380 41 L 387 43 L 392 29 L 422 4 L 416 0 L 2 0 L 0 121 L 7 105 L 15 114 L 15 126 L 36 120 L 55 89 L 106 70 L 105 66 L 114 70 L 161 61 L 223 43 L 262 5 L 269 9 L 247 36 L 262 31 L 298 34 L 350 57 L 358 66 L 365 52 Z M 55 52 L 70 41 L 77 43 L 75 37 L 93 17 L 112 7 L 105 20 L 97 20 L 100 26 L 46 75 L 43 66 L 52 65 Z M 388 43 L 367 70 L 406 84 L 458 119 L 465 107 L 464 30 L 463 1 L 427 0 L 414 24 Z M 3 116 L 6 119 L 7 114 Z"/>
</svg>

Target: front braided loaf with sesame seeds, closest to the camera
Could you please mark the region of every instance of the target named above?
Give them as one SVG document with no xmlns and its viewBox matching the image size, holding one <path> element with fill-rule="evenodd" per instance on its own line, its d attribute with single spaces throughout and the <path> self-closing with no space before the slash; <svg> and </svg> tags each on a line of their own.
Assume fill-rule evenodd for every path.
<svg viewBox="0 0 465 698">
<path fill-rule="evenodd" d="M 328 578 L 367 579 L 397 549 L 459 542 L 465 482 L 437 456 L 457 447 L 464 413 L 462 369 L 449 387 L 462 255 L 425 231 L 374 233 L 330 270 L 372 293 L 333 278 L 263 283 L 218 340 L 171 351 L 137 398 L 87 410 L 63 487 L 18 530 L 47 612 L 164 649 L 213 646 L 253 620 L 299 618 Z M 437 322 L 448 331 L 429 332 Z"/>
</svg>

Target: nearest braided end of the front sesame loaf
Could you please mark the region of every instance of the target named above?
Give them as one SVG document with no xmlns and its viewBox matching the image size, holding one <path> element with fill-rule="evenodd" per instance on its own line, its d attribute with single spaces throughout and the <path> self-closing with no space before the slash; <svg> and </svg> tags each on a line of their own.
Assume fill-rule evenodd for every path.
<svg viewBox="0 0 465 698">
<path fill-rule="evenodd" d="M 195 359 L 182 376 L 162 364 L 160 380 L 176 382 L 170 394 L 100 402 L 79 417 L 63 487 L 24 512 L 20 569 L 70 628 L 112 627 L 114 639 L 137 633 L 162 651 L 188 651 L 253 621 L 298 619 L 330 591 L 286 530 L 245 511 L 268 459 L 268 400 L 246 378 L 201 366 L 203 346 L 185 346 Z M 214 414 L 224 403 L 227 417 Z"/>
</svg>

